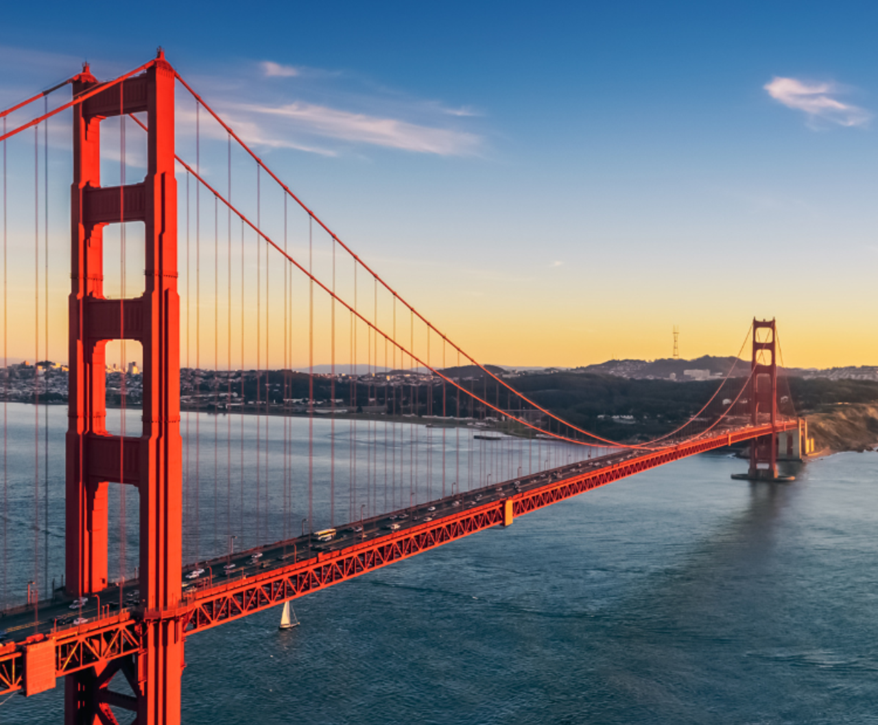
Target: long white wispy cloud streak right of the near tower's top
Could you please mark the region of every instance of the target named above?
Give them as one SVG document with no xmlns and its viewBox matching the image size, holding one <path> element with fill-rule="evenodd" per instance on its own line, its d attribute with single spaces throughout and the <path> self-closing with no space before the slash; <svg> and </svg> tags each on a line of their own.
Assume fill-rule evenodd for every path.
<svg viewBox="0 0 878 725">
<path fill-rule="evenodd" d="M 305 131 L 349 143 L 385 146 L 417 153 L 435 153 L 441 156 L 472 155 L 477 152 L 480 142 L 479 136 L 467 131 L 415 124 L 399 118 L 355 113 L 315 103 L 295 102 L 277 106 L 243 104 L 237 106 L 236 110 L 251 117 L 274 117 L 280 121 L 280 124 L 274 124 L 271 131 L 263 128 L 263 136 L 266 140 L 270 137 L 277 138 L 278 134 L 288 136 L 291 132 Z M 263 127 L 263 124 L 257 125 Z"/>
</svg>

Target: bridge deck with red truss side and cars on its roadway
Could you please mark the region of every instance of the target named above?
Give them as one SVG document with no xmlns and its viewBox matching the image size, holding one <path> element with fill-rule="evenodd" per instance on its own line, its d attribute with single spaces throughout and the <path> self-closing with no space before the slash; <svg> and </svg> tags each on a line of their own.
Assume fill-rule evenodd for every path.
<svg viewBox="0 0 878 725">
<path fill-rule="evenodd" d="M 338 527 L 330 541 L 318 542 L 306 535 L 235 552 L 198 567 L 190 565 L 184 567 L 184 575 L 196 568 L 205 572 L 197 579 L 184 579 L 184 600 L 171 615 L 185 635 L 208 629 L 476 531 L 508 525 L 516 516 L 634 473 L 796 425 L 792 420 L 777 423 L 774 429 L 770 424 L 725 429 L 657 450 L 617 451 L 349 523 Z M 139 651 L 139 622 L 157 613 L 144 611 L 138 594 L 137 582 L 132 581 L 121 597 L 119 586 L 110 586 L 76 606 L 59 591 L 54 601 L 4 613 L 0 696 L 22 688 L 25 694 L 47 689 L 45 682 L 29 681 L 26 672 L 29 661 L 35 667 L 39 660 L 45 669 L 50 649 L 54 649 L 55 678 Z"/>
</svg>

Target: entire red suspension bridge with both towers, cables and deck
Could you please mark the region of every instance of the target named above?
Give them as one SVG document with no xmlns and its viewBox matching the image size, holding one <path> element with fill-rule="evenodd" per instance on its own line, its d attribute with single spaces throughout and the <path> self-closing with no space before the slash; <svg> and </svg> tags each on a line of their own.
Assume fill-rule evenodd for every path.
<svg viewBox="0 0 878 725">
<path fill-rule="evenodd" d="M 204 629 L 704 451 L 749 441 L 746 477 L 776 480 L 779 436 L 801 443 L 774 320 L 753 320 L 738 351 L 750 342 L 749 369 L 732 366 L 661 437 L 626 444 L 555 416 L 414 309 L 161 51 L 109 82 L 85 66 L 0 117 L 0 695 L 62 679 L 71 725 L 180 722 L 184 643 Z M 69 195 L 54 191 L 64 174 Z M 36 361 L 67 293 L 64 573 L 46 593 Z M 33 470 L 14 480 L 9 331 L 32 340 L 35 364 L 18 372 L 37 403 Z M 30 541 L 8 537 L 17 486 L 30 487 Z M 10 545 L 32 547 L 32 574 L 10 578 Z"/>
</svg>

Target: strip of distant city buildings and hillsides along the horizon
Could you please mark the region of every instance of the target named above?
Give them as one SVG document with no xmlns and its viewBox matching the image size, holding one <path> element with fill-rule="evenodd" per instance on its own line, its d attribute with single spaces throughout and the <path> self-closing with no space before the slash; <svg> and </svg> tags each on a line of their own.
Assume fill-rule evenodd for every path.
<svg viewBox="0 0 878 725">
<path fill-rule="evenodd" d="M 716 380 L 732 372 L 746 376 L 750 371 L 748 360 L 734 358 L 702 358 L 698 360 L 661 359 L 609 360 L 601 365 L 579 367 L 575 370 L 560 368 L 503 369 L 491 366 L 491 372 L 502 378 L 552 373 L 598 373 L 640 380 L 672 380 L 680 383 Z M 693 362 L 703 366 L 692 367 Z M 705 364 L 706 363 L 706 364 Z M 732 365 L 735 365 L 732 371 Z M 688 366 L 687 366 L 688 365 Z M 791 377 L 804 380 L 874 380 L 878 381 L 878 366 L 816 368 L 788 368 Z M 484 373 L 476 366 L 450 368 L 444 371 L 451 380 L 464 387 L 480 385 Z M 441 416 L 439 409 L 443 379 L 429 371 L 391 370 L 351 375 L 348 373 L 313 373 L 299 370 L 234 370 L 214 371 L 183 368 L 180 371 L 180 402 L 184 409 L 243 411 L 246 409 L 277 409 L 290 413 L 339 414 L 362 412 L 392 415 Z M 309 389 L 311 397 L 309 397 Z M 427 391 L 434 391 L 428 394 Z M 420 392 L 419 392 L 420 391 Z M 9 402 L 66 403 L 68 394 L 68 366 L 41 360 L 25 360 L 0 367 L 0 400 Z M 125 368 L 114 363 L 106 367 L 106 401 L 110 406 L 137 406 L 142 400 L 142 376 L 136 362 Z M 457 413 L 456 402 L 446 401 L 446 413 Z M 465 408 L 465 409 L 464 409 Z M 412 411 L 416 410 L 416 413 Z M 461 417 L 479 412 L 479 405 L 465 402 Z M 486 415 L 488 411 L 481 411 Z M 526 413 L 526 411 L 524 411 Z M 626 423 L 619 418 L 618 423 Z"/>
</svg>

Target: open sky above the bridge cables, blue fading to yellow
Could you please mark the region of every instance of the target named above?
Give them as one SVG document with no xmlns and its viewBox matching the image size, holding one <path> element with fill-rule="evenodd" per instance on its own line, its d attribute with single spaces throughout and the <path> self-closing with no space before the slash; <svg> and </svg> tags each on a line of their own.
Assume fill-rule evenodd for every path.
<svg viewBox="0 0 878 725">
<path fill-rule="evenodd" d="M 828 3 L 4 9 L 4 103 L 164 46 L 479 359 L 878 363 L 878 9 Z M 73 66 L 73 68 L 71 68 Z"/>
</svg>

